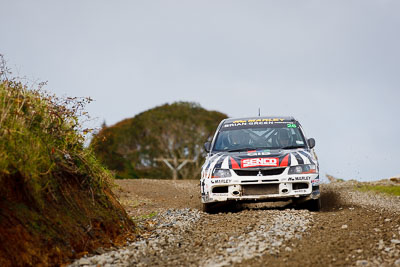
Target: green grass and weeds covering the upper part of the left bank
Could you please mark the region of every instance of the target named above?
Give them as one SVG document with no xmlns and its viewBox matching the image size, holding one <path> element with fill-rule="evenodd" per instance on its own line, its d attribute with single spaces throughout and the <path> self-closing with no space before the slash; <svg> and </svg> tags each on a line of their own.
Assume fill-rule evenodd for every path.
<svg viewBox="0 0 400 267">
<path fill-rule="evenodd" d="M 81 185 L 93 191 L 110 185 L 112 175 L 84 146 L 91 130 L 81 121 L 88 119 L 84 107 L 91 99 L 59 98 L 42 90 L 43 84 L 28 89 L 10 75 L 0 55 L 0 184 L 22 177 L 35 199 L 52 195 L 66 174 L 82 178 Z"/>
</svg>

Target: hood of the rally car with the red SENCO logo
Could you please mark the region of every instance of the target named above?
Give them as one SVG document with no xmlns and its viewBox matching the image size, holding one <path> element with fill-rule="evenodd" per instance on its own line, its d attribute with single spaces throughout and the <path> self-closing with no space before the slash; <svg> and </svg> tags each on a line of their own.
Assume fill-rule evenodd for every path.
<svg viewBox="0 0 400 267">
<path fill-rule="evenodd" d="M 211 155 L 205 170 L 221 169 L 262 169 L 315 164 L 316 159 L 307 149 L 251 150 L 241 152 L 219 152 Z"/>
</svg>

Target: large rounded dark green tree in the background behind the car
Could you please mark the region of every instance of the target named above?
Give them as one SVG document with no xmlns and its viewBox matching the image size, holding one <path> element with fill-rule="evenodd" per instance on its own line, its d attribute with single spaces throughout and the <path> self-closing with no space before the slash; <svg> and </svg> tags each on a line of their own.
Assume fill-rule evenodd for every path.
<svg viewBox="0 0 400 267">
<path fill-rule="evenodd" d="M 203 144 L 226 115 L 198 104 L 176 102 L 147 110 L 103 129 L 91 146 L 98 158 L 120 178 L 171 178 L 160 158 L 179 170 L 180 178 L 198 178 L 203 162 Z"/>
</svg>

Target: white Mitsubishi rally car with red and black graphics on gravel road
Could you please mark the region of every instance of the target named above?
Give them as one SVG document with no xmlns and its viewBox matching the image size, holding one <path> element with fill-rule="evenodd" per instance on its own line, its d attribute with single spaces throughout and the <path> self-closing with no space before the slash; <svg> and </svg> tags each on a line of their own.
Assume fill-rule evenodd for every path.
<svg viewBox="0 0 400 267">
<path fill-rule="evenodd" d="M 293 117 L 223 120 L 201 171 L 203 210 L 219 202 L 292 200 L 321 208 L 315 140 Z"/>
</svg>

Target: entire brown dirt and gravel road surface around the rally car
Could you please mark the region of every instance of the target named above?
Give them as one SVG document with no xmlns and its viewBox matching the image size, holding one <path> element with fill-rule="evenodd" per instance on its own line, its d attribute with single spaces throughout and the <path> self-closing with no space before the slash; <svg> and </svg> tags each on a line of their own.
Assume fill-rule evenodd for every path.
<svg viewBox="0 0 400 267">
<path fill-rule="evenodd" d="M 246 207 L 206 214 L 199 181 L 119 180 L 141 237 L 73 265 L 400 266 L 400 199 L 323 185 L 321 212 Z"/>
</svg>

